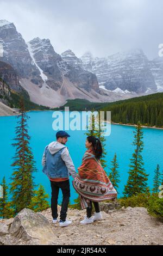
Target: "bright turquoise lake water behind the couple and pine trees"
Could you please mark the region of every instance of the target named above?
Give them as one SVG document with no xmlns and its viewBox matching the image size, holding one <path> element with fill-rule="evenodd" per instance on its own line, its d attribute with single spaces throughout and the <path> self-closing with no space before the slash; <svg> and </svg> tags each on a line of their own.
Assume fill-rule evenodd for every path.
<svg viewBox="0 0 163 256">
<path fill-rule="evenodd" d="M 35 173 L 35 183 L 42 184 L 45 187 L 46 193 L 51 197 L 51 187 L 49 180 L 45 174 L 42 173 L 41 159 L 45 146 L 52 141 L 55 141 L 55 131 L 52 129 L 53 111 L 33 111 L 29 112 L 30 119 L 28 120 L 28 131 L 31 136 L 30 147 L 32 147 L 34 158 L 36 161 L 37 173 Z M 1 149 L 0 149 L 0 181 L 5 175 L 7 182 L 10 182 L 10 177 L 13 172 L 11 167 L 12 157 L 15 154 L 15 148 L 11 146 L 14 143 L 15 127 L 17 125 L 17 118 L 0 117 L 1 127 Z M 127 182 L 130 158 L 134 151 L 132 145 L 135 130 L 134 126 L 111 125 L 111 134 L 106 138 L 106 161 L 108 168 L 106 172 L 110 172 L 110 162 L 117 154 L 117 161 L 119 164 L 119 172 L 121 182 L 118 189 L 118 197 L 122 196 L 124 185 Z M 85 131 L 68 131 L 71 137 L 68 138 L 67 147 L 77 168 L 82 163 L 82 157 L 85 152 Z M 161 171 L 163 169 L 163 130 L 143 128 L 143 142 L 144 148 L 142 152 L 143 161 L 145 163 L 146 173 L 148 176 L 148 185 L 152 188 L 153 176 L 156 164 L 160 165 Z M 72 179 L 71 179 L 72 181 Z M 74 191 L 71 182 L 71 203 L 77 198 L 77 193 Z M 59 194 L 59 204 L 61 203 L 61 193 Z"/>
</svg>

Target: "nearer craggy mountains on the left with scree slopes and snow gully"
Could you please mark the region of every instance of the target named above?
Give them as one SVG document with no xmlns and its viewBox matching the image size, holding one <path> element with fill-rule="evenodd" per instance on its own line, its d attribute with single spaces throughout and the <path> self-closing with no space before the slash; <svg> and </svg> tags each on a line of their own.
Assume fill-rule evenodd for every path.
<svg viewBox="0 0 163 256">
<path fill-rule="evenodd" d="M 106 101 L 100 94 L 96 75 L 82 66 L 68 63 L 66 53 L 62 59 L 49 39 L 34 38 L 26 43 L 14 23 L 2 20 L 0 46 L 0 60 L 17 71 L 18 80 L 29 93 L 30 100 L 53 107 L 77 97 Z"/>
</svg>

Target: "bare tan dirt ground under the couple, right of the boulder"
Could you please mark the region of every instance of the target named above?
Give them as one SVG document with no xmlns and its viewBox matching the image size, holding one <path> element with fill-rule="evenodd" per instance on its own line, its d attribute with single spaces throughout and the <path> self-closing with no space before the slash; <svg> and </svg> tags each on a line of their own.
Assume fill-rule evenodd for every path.
<svg viewBox="0 0 163 256">
<path fill-rule="evenodd" d="M 73 223 L 64 228 L 52 224 L 51 209 L 42 214 L 58 236 L 58 245 L 163 245 L 163 223 L 148 215 L 145 208 L 102 212 L 102 221 L 87 225 L 80 224 L 85 210 L 68 209 L 67 217 Z"/>
</svg>

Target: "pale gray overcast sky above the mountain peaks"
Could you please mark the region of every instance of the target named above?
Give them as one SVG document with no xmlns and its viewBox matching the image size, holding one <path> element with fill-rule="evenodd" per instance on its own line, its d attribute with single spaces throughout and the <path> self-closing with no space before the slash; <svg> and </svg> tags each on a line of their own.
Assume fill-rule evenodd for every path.
<svg viewBox="0 0 163 256">
<path fill-rule="evenodd" d="M 49 38 L 57 53 L 105 57 L 136 47 L 151 59 L 163 43 L 162 0 L 0 0 L 0 10 L 24 40 Z"/>
</svg>

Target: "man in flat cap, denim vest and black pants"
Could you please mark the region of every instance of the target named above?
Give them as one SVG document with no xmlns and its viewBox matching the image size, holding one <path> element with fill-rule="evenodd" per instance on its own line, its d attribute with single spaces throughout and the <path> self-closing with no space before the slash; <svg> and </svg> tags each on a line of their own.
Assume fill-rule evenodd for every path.
<svg viewBox="0 0 163 256">
<path fill-rule="evenodd" d="M 70 135 L 68 135 L 67 132 L 58 131 L 56 133 L 57 141 L 51 142 L 49 145 L 46 146 L 42 157 L 42 171 L 48 176 L 51 182 L 51 209 L 53 223 L 57 223 L 59 188 L 61 188 L 62 191 L 63 199 L 61 204 L 59 221 L 60 227 L 65 227 L 72 223 L 72 221 L 66 220 L 68 203 L 70 200 L 69 173 L 72 175 L 73 178 L 75 178 L 75 176 L 77 175 L 68 149 L 65 146 L 68 137 L 70 137 Z"/>
</svg>

